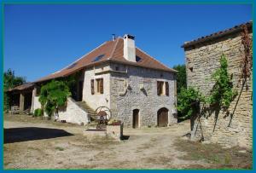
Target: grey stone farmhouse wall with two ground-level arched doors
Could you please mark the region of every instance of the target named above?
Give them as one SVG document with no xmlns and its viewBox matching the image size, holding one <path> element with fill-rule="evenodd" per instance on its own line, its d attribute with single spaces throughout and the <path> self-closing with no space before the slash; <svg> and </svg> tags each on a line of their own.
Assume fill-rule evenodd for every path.
<svg viewBox="0 0 256 173">
<path fill-rule="evenodd" d="M 139 109 L 139 126 L 157 125 L 157 111 L 166 107 L 168 124 L 177 123 L 172 110 L 175 109 L 175 75 L 137 66 L 111 63 L 110 108 L 113 118 L 119 118 L 125 126 L 131 126 L 134 109 Z M 169 83 L 169 96 L 157 95 L 157 81 Z M 130 87 L 129 87 L 130 86 Z"/>
</svg>

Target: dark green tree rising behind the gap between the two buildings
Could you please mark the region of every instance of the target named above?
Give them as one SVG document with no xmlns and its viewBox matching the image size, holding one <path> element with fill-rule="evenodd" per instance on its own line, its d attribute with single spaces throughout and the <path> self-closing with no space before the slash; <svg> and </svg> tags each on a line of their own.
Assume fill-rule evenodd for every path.
<svg viewBox="0 0 256 173">
<path fill-rule="evenodd" d="M 173 66 L 173 69 L 177 70 L 177 94 L 181 92 L 182 88 L 187 88 L 186 66 L 177 65 Z"/>
</svg>

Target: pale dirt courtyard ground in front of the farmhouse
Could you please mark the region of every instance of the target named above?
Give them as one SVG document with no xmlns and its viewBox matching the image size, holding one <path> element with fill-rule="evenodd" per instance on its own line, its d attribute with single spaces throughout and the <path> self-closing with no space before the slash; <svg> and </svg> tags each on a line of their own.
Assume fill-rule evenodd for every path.
<svg viewBox="0 0 256 173">
<path fill-rule="evenodd" d="M 123 141 L 83 135 L 88 126 L 4 115 L 4 169 L 251 169 L 252 152 L 184 137 L 189 121 L 124 129 Z"/>
</svg>

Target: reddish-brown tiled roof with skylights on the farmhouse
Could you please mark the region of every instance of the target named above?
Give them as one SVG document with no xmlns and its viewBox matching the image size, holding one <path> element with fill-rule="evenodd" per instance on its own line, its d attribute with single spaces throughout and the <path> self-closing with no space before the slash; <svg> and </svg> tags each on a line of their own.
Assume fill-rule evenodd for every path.
<svg viewBox="0 0 256 173">
<path fill-rule="evenodd" d="M 35 83 L 43 82 L 53 78 L 67 77 L 74 72 L 78 72 L 84 67 L 94 66 L 106 61 L 114 61 L 132 66 L 143 66 L 166 72 L 177 72 L 176 70 L 173 70 L 172 68 L 161 64 L 160 61 L 156 61 L 153 57 L 138 48 L 136 48 L 136 55 L 140 57 L 141 60 L 137 62 L 127 61 L 124 58 L 123 49 L 124 40 L 122 37 L 118 37 L 113 41 L 102 43 L 102 45 L 100 45 L 96 49 L 93 49 L 92 51 L 90 51 L 90 53 L 82 56 L 79 60 L 74 61 L 71 65 L 61 69 L 61 71 L 49 74 L 49 76 L 46 76 L 44 78 L 40 78 Z M 99 57 L 99 60 L 94 61 L 97 57 Z"/>
</svg>

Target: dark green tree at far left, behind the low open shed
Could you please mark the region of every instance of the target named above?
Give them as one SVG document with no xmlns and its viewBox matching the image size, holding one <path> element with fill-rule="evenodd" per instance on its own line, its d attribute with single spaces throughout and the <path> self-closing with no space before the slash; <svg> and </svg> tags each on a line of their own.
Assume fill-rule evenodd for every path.
<svg viewBox="0 0 256 173">
<path fill-rule="evenodd" d="M 9 95 L 6 93 L 8 89 L 13 89 L 20 84 L 25 84 L 26 78 L 15 77 L 15 71 L 8 69 L 7 72 L 3 72 L 3 110 L 9 110 Z"/>
</svg>

